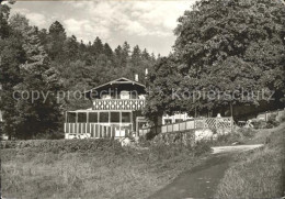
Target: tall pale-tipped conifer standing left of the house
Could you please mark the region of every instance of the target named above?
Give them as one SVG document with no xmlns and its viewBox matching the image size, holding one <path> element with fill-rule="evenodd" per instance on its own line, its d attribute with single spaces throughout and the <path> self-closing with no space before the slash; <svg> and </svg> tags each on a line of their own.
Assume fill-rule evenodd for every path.
<svg viewBox="0 0 285 199">
<path fill-rule="evenodd" d="M 15 110 L 16 137 L 32 139 L 38 134 L 57 131 L 61 118 L 56 91 L 61 88 L 58 73 L 49 67 L 49 60 L 34 27 L 23 35 L 26 62 L 21 65 L 23 80 L 14 87 L 30 98 L 19 98 Z M 39 93 L 35 92 L 38 91 Z M 44 98 L 43 93 L 48 95 Z M 34 97 L 34 100 L 32 98 Z"/>
</svg>

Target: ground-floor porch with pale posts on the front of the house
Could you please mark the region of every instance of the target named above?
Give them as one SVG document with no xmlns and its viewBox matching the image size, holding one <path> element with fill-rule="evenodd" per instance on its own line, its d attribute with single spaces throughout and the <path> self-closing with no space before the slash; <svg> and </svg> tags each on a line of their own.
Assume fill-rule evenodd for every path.
<svg viewBox="0 0 285 199">
<path fill-rule="evenodd" d="M 125 137 L 134 132 L 132 111 L 78 110 L 66 112 L 66 139 Z"/>
</svg>

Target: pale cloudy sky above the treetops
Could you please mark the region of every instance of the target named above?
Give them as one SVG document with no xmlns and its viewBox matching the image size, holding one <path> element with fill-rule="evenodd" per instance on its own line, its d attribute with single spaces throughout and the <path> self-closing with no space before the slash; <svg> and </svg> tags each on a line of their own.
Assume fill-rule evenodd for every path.
<svg viewBox="0 0 285 199">
<path fill-rule="evenodd" d="M 11 14 L 24 14 L 32 25 L 47 29 L 59 21 L 67 35 L 84 43 L 99 36 L 114 49 L 125 41 L 149 53 L 168 55 L 175 41 L 178 18 L 196 0 L 18 1 Z"/>
</svg>

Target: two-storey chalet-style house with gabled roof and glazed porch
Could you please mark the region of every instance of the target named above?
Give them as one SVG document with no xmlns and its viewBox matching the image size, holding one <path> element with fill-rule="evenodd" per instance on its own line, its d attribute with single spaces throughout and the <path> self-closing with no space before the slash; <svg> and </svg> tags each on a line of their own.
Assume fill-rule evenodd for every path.
<svg viewBox="0 0 285 199">
<path fill-rule="evenodd" d="M 92 101 L 92 108 L 66 113 L 66 139 L 124 137 L 147 123 L 141 114 L 146 86 L 138 81 L 118 78 L 84 96 Z"/>
</svg>

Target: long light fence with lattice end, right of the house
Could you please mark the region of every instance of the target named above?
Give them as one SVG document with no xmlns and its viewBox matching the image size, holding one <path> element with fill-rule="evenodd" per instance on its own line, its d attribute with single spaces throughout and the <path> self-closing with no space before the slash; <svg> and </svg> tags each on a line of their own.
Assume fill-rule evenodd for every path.
<svg viewBox="0 0 285 199">
<path fill-rule="evenodd" d="M 150 131 L 156 131 L 157 133 L 174 133 L 193 129 L 232 129 L 232 118 L 203 118 L 161 125 L 157 130 L 155 130 L 155 128 L 140 129 L 139 135 L 145 135 Z"/>
</svg>

